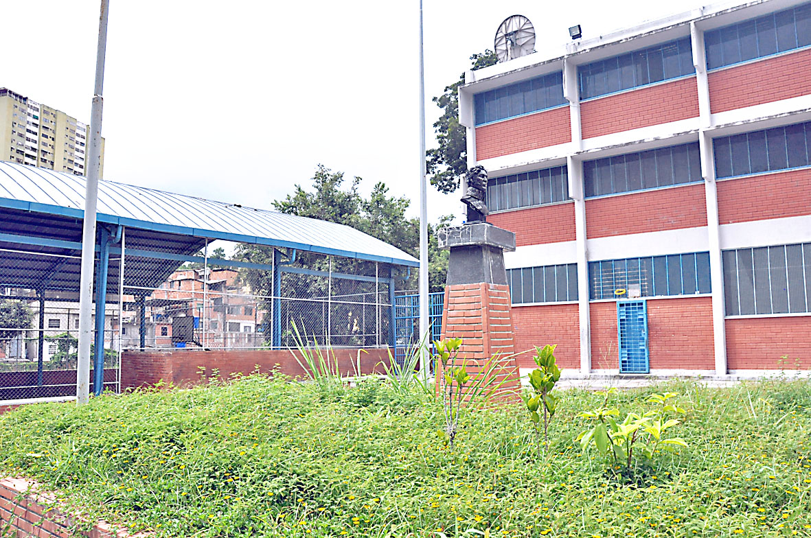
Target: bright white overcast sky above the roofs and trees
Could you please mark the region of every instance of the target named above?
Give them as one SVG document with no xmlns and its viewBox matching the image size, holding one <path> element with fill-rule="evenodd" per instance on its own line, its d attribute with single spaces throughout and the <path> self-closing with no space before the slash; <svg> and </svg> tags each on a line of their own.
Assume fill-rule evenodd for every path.
<svg viewBox="0 0 811 538">
<path fill-rule="evenodd" d="M 0 3 L 11 3 L 2 0 Z M 104 86 L 105 179 L 269 208 L 317 164 L 384 181 L 418 207 L 418 0 L 110 0 Z M 536 49 L 701 6 L 699 0 L 424 0 L 428 147 L 431 96 L 526 15 Z M 98 0 L 26 0 L 3 24 L 0 87 L 90 122 Z M 12 51 L 14 51 L 13 55 Z M 428 215 L 458 194 L 429 187 Z"/>
</svg>

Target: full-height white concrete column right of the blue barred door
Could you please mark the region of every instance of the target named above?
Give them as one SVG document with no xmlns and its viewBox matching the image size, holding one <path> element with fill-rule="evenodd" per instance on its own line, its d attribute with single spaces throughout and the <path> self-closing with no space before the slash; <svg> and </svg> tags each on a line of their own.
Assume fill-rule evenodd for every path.
<svg viewBox="0 0 811 538">
<path fill-rule="evenodd" d="M 710 110 L 710 84 L 706 72 L 704 32 L 690 23 L 693 43 L 693 65 L 698 87 L 699 132 L 698 147 L 702 159 L 702 177 L 707 207 L 707 239 L 710 246 L 710 284 L 712 286 L 712 326 L 715 351 L 715 375 L 727 375 L 727 326 L 723 298 L 723 266 L 719 234 L 718 189 L 715 183 L 715 160 L 712 149 L 712 113 Z"/>
</svg>

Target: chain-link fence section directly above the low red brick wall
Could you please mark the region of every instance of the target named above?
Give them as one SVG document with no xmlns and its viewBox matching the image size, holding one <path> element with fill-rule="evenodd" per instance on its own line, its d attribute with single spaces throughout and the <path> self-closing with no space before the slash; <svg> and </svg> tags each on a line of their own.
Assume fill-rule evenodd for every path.
<svg viewBox="0 0 811 538">
<path fill-rule="evenodd" d="M 125 271 L 122 292 L 130 300 L 123 309 L 133 314 L 124 322 L 125 350 L 295 348 L 298 339 L 333 348 L 393 343 L 391 267 L 353 261 L 337 271 L 331 256 L 297 261 L 276 250 L 268 264 L 209 258 L 207 250 L 158 288 L 149 285 L 148 270 Z M 138 266 L 149 267 L 145 261 Z"/>
</svg>

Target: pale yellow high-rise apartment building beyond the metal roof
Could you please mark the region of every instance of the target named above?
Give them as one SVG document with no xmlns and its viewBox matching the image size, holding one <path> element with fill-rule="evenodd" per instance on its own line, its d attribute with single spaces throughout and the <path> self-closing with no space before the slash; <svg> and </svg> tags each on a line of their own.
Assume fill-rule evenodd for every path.
<svg viewBox="0 0 811 538">
<path fill-rule="evenodd" d="M 0 160 L 86 176 L 88 127 L 61 110 L 0 88 Z M 104 142 L 99 177 L 104 173 Z"/>
</svg>

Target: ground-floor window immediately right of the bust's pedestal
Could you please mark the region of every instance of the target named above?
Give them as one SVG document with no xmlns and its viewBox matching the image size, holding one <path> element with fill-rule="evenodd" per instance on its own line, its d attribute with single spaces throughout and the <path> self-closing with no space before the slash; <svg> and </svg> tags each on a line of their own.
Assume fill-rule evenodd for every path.
<svg viewBox="0 0 811 538">
<path fill-rule="evenodd" d="M 507 270 L 513 305 L 577 301 L 577 263 Z"/>
</svg>

